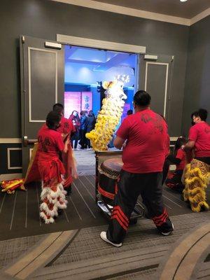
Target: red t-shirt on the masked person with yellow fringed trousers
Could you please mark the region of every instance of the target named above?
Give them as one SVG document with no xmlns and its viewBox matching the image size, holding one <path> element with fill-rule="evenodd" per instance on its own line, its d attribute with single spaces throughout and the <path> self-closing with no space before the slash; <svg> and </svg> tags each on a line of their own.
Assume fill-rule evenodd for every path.
<svg viewBox="0 0 210 280">
<path fill-rule="evenodd" d="M 195 157 L 210 157 L 210 125 L 197 123 L 190 127 L 189 140 L 195 141 Z"/>
</svg>

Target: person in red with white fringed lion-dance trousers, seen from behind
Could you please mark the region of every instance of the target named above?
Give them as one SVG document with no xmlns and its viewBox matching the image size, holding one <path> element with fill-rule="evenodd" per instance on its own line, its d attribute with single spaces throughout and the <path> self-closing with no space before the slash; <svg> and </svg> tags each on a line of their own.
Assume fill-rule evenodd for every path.
<svg viewBox="0 0 210 280">
<path fill-rule="evenodd" d="M 46 125 L 38 131 L 38 172 L 42 180 L 40 216 L 45 223 L 54 223 L 58 209 L 66 208 L 66 191 L 62 185 L 64 165 L 59 160 L 59 152 L 66 153 L 69 139 L 65 144 L 57 132 L 61 116 L 56 111 L 48 113 Z"/>
</svg>

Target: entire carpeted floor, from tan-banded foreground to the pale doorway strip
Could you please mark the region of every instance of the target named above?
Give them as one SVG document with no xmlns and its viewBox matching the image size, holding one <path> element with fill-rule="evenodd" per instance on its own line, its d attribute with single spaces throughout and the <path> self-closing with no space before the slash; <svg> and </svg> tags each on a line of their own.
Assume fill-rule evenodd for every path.
<svg viewBox="0 0 210 280">
<path fill-rule="evenodd" d="M 151 220 L 139 218 L 137 225 L 130 225 L 123 246 L 114 248 L 99 238 L 108 221 L 95 204 L 94 153 L 75 151 L 75 156 L 80 176 L 73 183 L 67 209 L 55 224 L 45 225 L 38 216 L 38 183 L 15 195 L 1 193 L 1 280 L 210 279 L 210 211 L 192 213 L 179 193 L 164 187 L 173 234 L 162 237 Z M 207 197 L 210 202 L 209 189 Z M 195 236 L 196 232 L 200 235 Z M 177 267 L 174 261 L 167 265 L 173 252 L 181 258 Z M 165 266 L 166 272 L 180 270 L 181 278 L 179 273 L 162 277 Z"/>
</svg>

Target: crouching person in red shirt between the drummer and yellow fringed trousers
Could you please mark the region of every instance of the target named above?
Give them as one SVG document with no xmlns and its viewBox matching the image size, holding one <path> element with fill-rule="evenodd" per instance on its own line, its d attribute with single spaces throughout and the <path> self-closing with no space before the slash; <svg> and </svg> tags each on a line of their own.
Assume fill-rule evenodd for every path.
<svg viewBox="0 0 210 280">
<path fill-rule="evenodd" d="M 187 141 L 184 137 L 179 137 L 174 145 L 174 153 L 167 156 L 169 163 L 176 165 L 176 170 L 172 176 L 167 178 L 165 185 L 181 192 L 184 188 L 183 183 L 181 183 L 181 176 L 186 167 L 186 152 L 181 149 L 181 146 L 186 144 L 186 142 Z"/>
</svg>

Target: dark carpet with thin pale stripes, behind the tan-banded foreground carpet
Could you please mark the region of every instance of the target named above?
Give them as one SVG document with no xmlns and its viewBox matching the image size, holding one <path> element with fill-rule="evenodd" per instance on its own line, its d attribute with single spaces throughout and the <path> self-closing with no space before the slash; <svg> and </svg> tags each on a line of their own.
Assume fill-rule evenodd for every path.
<svg viewBox="0 0 210 280">
<path fill-rule="evenodd" d="M 34 183 L 27 191 L 16 191 L 14 195 L 0 195 L 0 240 L 30 235 L 43 235 L 60 230 L 74 230 L 108 223 L 95 204 L 94 176 L 80 176 L 72 186 L 68 207 L 56 223 L 45 225 L 38 215 L 41 188 Z M 192 211 L 181 195 L 164 188 L 163 197 L 170 216 L 190 214 Z M 209 193 L 208 193 L 209 197 Z"/>
</svg>

